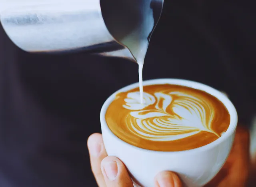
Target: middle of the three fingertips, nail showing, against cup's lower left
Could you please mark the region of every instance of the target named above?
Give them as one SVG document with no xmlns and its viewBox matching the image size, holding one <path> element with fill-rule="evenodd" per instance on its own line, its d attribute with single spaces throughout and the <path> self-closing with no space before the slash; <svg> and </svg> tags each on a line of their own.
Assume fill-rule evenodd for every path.
<svg viewBox="0 0 256 187">
<path fill-rule="evenodd" d="M 116 157 L 106 157 L 101 162 L 101 170 L 107 187 L 133 187 L 126 167 Z"/>
</svg>

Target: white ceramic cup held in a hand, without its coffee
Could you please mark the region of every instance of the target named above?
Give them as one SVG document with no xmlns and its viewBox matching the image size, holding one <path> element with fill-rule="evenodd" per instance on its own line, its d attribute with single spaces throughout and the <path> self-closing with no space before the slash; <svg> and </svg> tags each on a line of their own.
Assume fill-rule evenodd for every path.
<svg viewBox="0 0 256 187">
<path fill-rule="evenodd" d="M 144 86 L 154 84 L 187 86 L 218 98 L 230 114 L 230 125 L 226 133 L 212 143 L 186 151 L 152 151 L 126 143 L 108 128 L 105 114 L 116 94 L 137 88 L 139 84 L 136 83 L 112 94 L 102 106 L 100 122 L 106 151 L 108 155 L 121 159 L 134 181 L 143 187 L 154 187 L 154 177 L 161 171 L 178 173 L 185 187 L 202 187 L 220 171 L 230 153 L 238 120 L 236 109 L 226 95 L 204 84 L 179 79 L 144 81 Z"/>
</svg>

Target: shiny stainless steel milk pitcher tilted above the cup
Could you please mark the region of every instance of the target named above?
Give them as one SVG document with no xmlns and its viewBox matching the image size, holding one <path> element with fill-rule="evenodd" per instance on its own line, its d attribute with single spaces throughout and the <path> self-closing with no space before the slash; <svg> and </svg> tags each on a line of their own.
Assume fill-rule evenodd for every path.
<svg viewBox="0 0 256 187">
<path fill-rule="evenodd" d="M 164 0 L 0 0 L 0 21 L 27 52 L 83 50 L 134 59 Z"/>
</svg>

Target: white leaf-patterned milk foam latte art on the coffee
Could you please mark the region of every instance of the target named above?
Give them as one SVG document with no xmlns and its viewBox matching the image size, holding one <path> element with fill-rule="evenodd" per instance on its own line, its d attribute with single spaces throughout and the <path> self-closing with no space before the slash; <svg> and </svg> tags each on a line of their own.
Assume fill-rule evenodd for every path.
<svg viewBox="0 0 256 187">
<path fill-rule="evenodd" d="M 172 141 L 212 130 L 214 110 L 210 102 L 182 92 L 168 94 L 144 93 L 144 104 L 140 104 L 140 92 L 131 92 L 124 99 L 124 108 L 130 110 L 126 116 L 128 129 L 137 136 L 152 141 Z M 147 109 L 154 105 L 153 109 Z"/>
</svg>

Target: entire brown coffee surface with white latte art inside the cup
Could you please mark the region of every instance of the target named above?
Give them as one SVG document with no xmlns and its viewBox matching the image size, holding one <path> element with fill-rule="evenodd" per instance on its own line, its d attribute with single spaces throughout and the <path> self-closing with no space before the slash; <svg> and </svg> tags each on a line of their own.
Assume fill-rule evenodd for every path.
<svg viewBox="0 0 256 187">
<path fill-rule="evenodd" d="M 184 151 L 218 139 L 230 124 L 230 114 L 216 97 L 172 84 L 144 86 L 122 92 L 106 111 L 110 130 L 143 149 Z"/>
</svg>

